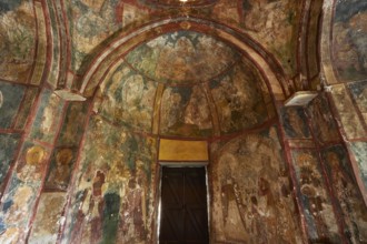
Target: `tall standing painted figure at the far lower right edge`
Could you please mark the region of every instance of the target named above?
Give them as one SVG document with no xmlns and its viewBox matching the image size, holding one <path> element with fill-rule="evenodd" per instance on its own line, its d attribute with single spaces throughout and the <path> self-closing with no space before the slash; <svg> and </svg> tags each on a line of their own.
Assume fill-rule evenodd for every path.
<svg viewBox="0 0 367 244">
<path fill-rule="evenodd" d="M 335 195 L 339 201 L 344 220 L 347 224 L 353 243 L 367 241 L 367 211 L 358 192 L 358 186 L 347 172 L 340 166 L 340 160 L 336 152 L 328 152 L 326 160 L 331 169 L 331 181 Z"/>
</svg>

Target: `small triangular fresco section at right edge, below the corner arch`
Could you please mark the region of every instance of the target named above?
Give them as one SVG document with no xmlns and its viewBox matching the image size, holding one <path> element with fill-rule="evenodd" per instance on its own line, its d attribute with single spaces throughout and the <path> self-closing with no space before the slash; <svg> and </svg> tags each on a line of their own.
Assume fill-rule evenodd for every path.
<svg viewBox="0 0 367 244">
<path fill-rule="evenodd" d="M 365 123 L 367 123 L 367 81 L 349 83 L 348 89 L 365 120 Z"/>
</svg>

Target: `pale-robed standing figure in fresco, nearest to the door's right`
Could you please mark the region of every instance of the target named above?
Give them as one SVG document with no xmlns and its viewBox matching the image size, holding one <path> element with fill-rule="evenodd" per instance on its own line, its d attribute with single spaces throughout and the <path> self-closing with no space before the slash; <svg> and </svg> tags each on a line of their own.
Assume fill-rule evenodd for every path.
<svg viewBox="0 0 367 244">
<path fill-rule="evenodd" d="M 242 203 L 242 195 L 239 192 L 236 179 L 232 177 L 238 162 L 234 155 L 225 154 L 219 163 L 227 165 L 220 190 L 226 238 L 228 241 L 247 242 L 248 233 L 245 218 L 247 206 Z"/>
</svg>

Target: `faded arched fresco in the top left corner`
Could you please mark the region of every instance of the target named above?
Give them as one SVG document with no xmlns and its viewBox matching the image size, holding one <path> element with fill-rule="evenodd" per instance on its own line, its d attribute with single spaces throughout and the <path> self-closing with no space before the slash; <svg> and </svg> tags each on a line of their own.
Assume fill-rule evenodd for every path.
<svg viewBox="0 0 367 244">
<path fill-rule="evenodd" d="M 33 1 L 0 2 L 0 78 L 26 83 L 36 49 Z"/>
</svg>

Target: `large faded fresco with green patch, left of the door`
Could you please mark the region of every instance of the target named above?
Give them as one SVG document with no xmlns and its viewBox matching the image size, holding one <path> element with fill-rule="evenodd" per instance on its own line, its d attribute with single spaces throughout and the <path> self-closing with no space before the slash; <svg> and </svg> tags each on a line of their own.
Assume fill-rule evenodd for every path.
<svg viewBox="0 0 367 244">
<path fill-rule="evenodd" d="M 155 160 L 153 139 L 93 116 L 62 242 L 149 242 Z"/>
</svg>

